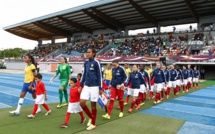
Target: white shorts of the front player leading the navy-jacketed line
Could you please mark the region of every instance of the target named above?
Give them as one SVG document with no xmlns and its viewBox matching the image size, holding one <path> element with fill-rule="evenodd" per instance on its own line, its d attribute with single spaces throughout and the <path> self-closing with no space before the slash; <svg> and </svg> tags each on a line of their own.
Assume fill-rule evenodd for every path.
<svg viewBox="0 0 215 134">
<path fill-rule="evenodd" d="M 84 85 L 80 98 L 83 100 L 88 100 L 90 98 L 91 102 L 97 102 L 99 98 L 99 87 L 88 87 Z"/>
</svg>

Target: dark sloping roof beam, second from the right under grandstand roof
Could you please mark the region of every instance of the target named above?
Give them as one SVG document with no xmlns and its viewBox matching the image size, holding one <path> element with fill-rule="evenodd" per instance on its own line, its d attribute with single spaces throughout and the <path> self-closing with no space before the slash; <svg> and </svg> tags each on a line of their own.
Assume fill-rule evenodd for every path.
<svg viewBox="0 0 215 134">
<path fill-rule="evenodd" d="M 136 2 L 134 2 L 133 0 L 128 0 L 131 5 L 133 5 L 133 7 L 144 17 L 146 18 L 150 23 L 152 23 L 153 25 L 157 25 L 157 21 L 155 20 L 155 18 L 150 15 L 145 9 L 143 9 L 140 5 L 138 5 Z"/>
</svg>

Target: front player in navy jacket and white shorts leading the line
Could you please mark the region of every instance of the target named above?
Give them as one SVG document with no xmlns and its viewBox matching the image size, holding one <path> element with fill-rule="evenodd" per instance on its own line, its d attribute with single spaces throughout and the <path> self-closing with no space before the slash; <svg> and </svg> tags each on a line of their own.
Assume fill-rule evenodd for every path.
<svg viewBox="0 0 215 134">
<path fill-rule="evenodd" d="M 81 78 L 80 88 L 83 88 L 80 96 L 80 105 L 84 112 L 90 118 L 87 126 L 87 130 L 93 130 L 96 128 L 96 102 L 98 101 L 99 94 L 103 93 L 102 91 L 102 72 L 100 63 L 95 60 L 96 50 L 88 49 L 87 58 L 88 60 L 84 63 L 84 73 Z M 88 109 L 86 101 L 91 101 L 92 112 Z"/>
</svg>

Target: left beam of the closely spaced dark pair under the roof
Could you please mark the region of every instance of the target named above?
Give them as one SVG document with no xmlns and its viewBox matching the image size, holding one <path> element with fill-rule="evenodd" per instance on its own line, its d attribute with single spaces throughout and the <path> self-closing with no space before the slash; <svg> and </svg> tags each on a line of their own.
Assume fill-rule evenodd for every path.
<svg viewBox="0 0 215 134">
<path fill-rule="evenodd" d="M 95 21 L 99 22 L 100 24 L 109 27 L 110 29 L 117 31 L 117 27 L 104 21 L 103 19 L 101 19 L 100 17 L 98 17 L 97 15 L 87 11 L 87 10 L 82 10 L 85 14 L 87 14 L 89 17 L 91 17 L 92 19 L 94 19 Z"/>
</svg>

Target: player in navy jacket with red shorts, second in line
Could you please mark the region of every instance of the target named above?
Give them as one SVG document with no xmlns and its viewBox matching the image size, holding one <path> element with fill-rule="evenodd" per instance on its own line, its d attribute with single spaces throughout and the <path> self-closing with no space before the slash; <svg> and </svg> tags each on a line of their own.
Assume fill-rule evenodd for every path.
<svg viewBox="0 0 215 134">
<path fill-rule="evenodd" d="M 111 112 L 113 110 L 114 101 L 116 96 L 118 96 L 118 101 L 120 104 L 120 114 L 119 117 L 123 117 L 124 110 L 124 85 L 127 82 L 127 75 L 123 67 L 119 66 L 119 61 L 113 61 L 113 69 L 112 69 L 112 80 L 111 80 L 111 95 L 110 95 L 110 103 L 108 106 L 108 113 L 103 115 L 103 118 L 110 119 Z"/>
</svg>

